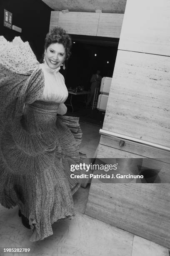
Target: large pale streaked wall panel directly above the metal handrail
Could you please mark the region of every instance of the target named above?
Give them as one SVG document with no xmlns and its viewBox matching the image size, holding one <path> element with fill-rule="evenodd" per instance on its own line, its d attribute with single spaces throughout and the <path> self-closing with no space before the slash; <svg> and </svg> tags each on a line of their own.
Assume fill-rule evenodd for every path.
<svg viewBox="0 0 170 256">
<path fill-rule="evenodd" d="M 103 129 L 170 145 L 170 58 L 118 51 Z"/>
</svg>

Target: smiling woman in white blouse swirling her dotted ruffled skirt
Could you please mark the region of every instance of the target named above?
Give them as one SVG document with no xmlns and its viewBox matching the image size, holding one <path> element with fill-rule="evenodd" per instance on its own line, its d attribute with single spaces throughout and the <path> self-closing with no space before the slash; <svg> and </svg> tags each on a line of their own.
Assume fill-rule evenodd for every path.
<svg viewBox="0 0 170 256">
<path fill-rule="evenodd" d="M 54 28 L 40 64 L 28 42 L 0 36 L 0 204 L 18 205 L 30 241 L 52 235 L 52 223 L 75 214 L 72 194 L 80 183 L 70 165 L 85 155 L 78 118 L 62 116 L 68 92 L 59 69 L 70 47 L 70 36 Z"/>
</svg>

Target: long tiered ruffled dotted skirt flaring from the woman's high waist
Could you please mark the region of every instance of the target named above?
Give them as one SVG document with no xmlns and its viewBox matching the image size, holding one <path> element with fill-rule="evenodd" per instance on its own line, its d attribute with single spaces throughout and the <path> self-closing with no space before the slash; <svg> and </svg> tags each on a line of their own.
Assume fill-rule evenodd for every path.
<svg viewBox="0 0 170 256">
<path fill-rule="evenodd" d="M 31 241 L 52 235 L 52 223 L 74 215 L 72 194 L 80 186 L 70 178 L 70 165 L 81 160 L 80 125 L 78 118 L 57 116 L 58 106 L 26 105 L 22 120 L 6 127 L 1 143 L 1 203 L 19 206 L 33 230 Z"/>
</svg>

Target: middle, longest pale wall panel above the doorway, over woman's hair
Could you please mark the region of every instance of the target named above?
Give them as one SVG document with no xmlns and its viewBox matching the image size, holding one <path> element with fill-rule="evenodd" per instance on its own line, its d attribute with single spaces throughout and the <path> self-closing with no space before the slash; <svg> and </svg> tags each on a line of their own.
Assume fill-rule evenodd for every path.
<svg viewBox="0 0 170 256">
<path fill-rule="evenodd" d="M 58 25 L 70 34 L 96 36 L 100 13 L 60 12 Z"/>
</svg>

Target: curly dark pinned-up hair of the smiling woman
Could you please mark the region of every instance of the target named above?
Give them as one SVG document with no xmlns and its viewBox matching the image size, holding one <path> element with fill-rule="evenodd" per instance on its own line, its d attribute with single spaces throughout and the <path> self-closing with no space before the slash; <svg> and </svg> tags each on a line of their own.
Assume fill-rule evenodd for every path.
<svg viewBox="0 0 170 256">
<path fill-rule="evenodd" d="M 50 33 L 47 33 L 44 47 L 47 49 L 50 44 L 55 43 L 62 44 L 64 46 L 66 52 L 65 59 L 67 60 L 71 55 L 70 48 L 72 46 L 72 42 L 69 34 L 67 34 L 61 27 L 55 27 L 50 31 Z"/>
</svg>

